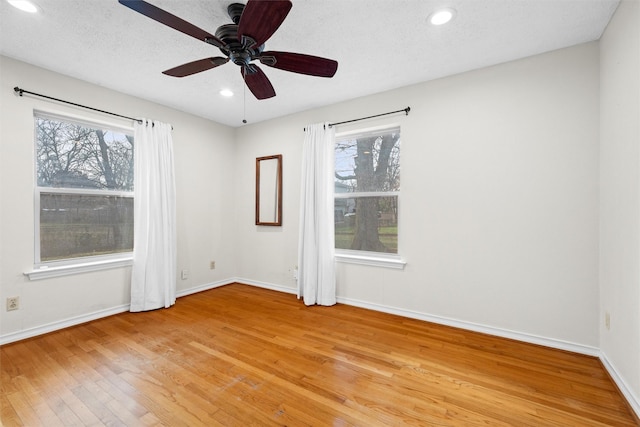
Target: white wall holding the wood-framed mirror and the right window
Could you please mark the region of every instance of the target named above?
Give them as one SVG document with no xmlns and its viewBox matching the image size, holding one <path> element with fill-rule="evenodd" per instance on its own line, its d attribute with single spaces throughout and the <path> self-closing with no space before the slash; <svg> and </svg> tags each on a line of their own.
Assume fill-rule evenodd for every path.
<svg viewBox="0 0 640 427">
<path fill-rule="evenodd" d="M 238 129 L 238 276 L 295 289 L 306 124 L 410 106 L 357 124 L 402 127 L 407 266 L 339 264 L 339 299 L 595 352 L 598 79 L 589 43 Z M 253 162 L 268 154 L 284 156 L 279 230 L 253 225 Z"/>
</svg>

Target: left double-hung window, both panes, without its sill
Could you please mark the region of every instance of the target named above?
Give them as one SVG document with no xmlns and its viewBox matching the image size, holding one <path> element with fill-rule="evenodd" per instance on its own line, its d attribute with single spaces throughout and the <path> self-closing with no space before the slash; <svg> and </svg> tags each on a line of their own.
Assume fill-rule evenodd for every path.
<svg viewBox="0 0 640 427">
<path fill-rule="evenodd" d="M 35 135 L 36 266 L 132 252 L 131 130 L 37 112 Z"/>
</svg>

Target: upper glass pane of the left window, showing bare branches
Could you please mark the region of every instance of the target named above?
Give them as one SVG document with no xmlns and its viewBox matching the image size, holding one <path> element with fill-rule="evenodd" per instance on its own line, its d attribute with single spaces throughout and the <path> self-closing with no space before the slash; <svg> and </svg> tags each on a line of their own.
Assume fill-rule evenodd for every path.
<svg viewBox="0 0 640 427">
<path fill-rule="evenodd" d="M 36 117 L 39 187 L 133 191 L 133 138 L 121 132 Z"/>
</svg>

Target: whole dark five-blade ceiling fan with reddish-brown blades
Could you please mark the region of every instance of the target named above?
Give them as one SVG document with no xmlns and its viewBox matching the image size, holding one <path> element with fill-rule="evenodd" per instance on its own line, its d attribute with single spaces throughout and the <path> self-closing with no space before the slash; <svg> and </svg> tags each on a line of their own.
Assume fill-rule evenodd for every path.
<svg viewBox="0 0 640 427">
<path fill-rule="evenodd" d="M 220 26 L 215 35 L 142 0 L 118 0 L 122 5 L 205 43 L 225 55 L 199 59 L 179 65 L 163 74 L 185 77 L 218 67 L 231 61 L 240 66 L 245 84 L 257 99 L 276 95 L 271 82 L 253 61 L 293 73 L 318 77 L 333 77 L 338 63 L 332 59 L 301 53 L 265 51 L 264 43 L 280 27 L 293 4 L 290 0 L 248 0 L 247 4 L 232 3 L 227 13 L 233 24 Z"/>
</svg>

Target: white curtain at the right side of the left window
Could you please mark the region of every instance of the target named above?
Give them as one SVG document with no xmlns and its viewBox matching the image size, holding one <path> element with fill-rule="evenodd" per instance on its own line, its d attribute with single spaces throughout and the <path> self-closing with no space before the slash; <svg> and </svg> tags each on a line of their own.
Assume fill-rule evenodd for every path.
<svg viewBox="0 0 640 427">
<path fill-rule="evenodd" d="M 171 125 L 134 126 L 134 249 L 130 311 L 176 302 L 176 214 Z"/>
</svg>

